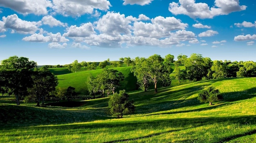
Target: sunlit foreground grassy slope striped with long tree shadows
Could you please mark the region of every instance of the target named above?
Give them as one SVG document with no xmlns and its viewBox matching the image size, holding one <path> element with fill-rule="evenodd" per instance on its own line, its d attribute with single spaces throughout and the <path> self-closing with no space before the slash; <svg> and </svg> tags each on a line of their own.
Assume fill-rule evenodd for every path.
<svg viewBox="0 0 256 143">
<path fill-rule="evenodd" d="M 225 100 L 199 103 L 197 93 L 211 85 Z M 136 112 L 124 119 L 108 115 L 108 98 L 78 108 L 0 104 L 0 142 L 256 142 L 256 78 L 191 82 L 130 98 Z"/>
</svg>

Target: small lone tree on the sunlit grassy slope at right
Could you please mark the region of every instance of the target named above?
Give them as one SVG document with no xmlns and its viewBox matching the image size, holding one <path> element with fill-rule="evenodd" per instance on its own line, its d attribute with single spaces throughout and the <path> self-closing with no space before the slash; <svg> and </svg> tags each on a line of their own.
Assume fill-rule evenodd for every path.
<svg viewBox="0 0 256 143">
<path fill-rule="evenodd" d="M 220 91 L 218 89 L 215 89 L 215 87 L 209 87 L 206 90 L 202 90 L 198 95 L 198 100 L 200 102 L 209 102 L 209 105 L 212 105 L 212 102 L 214 101 L 220 101 L 223 97 L 220 94 Z"/>
</svg>

